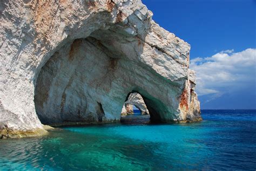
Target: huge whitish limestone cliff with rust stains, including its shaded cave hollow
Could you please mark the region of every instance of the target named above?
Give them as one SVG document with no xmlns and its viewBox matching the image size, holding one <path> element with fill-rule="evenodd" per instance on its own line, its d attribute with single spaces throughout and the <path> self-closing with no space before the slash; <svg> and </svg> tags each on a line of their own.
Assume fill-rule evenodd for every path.
<svg viewBox="0 0 256 171">
<path fill-rule="evenodd" d="M 190 45 L 139 0 L 3 0 L 0 12 L 1 134 L 118 121 L 130 92 L 152 121 L 201 119 Z"/>
</svg>

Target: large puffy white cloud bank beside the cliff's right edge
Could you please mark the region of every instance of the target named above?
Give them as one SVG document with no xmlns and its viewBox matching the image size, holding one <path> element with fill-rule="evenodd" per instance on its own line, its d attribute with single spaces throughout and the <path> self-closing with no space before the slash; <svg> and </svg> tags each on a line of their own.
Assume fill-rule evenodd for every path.
<svg viewBox="0 0 256 171">
<path fill-rule="evenodd" d="M 256 49 L 237 53 L 225 50 L 212 57 L 192 59 L 190 68 L 196 71 L 198 95 L 214 94 L 213 97 L 220 97 L 249 85 L 255 87 L 255 60 Z"/>
</svg>

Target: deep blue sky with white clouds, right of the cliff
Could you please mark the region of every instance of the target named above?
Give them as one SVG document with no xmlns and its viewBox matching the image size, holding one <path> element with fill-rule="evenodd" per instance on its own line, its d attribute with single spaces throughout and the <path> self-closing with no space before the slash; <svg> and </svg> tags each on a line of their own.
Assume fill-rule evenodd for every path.
<svg viewBox="0 0 256 171">
<path fill-rule="evenodd" d="M 202 109 L 256 109 L 256 0 L 142 0 L 191 45 Z"/>
</svg>

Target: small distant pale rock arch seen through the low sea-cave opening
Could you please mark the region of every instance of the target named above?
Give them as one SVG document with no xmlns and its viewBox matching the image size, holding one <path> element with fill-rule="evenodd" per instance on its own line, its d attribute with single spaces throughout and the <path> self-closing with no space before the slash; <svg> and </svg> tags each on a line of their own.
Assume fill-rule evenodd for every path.
<svg viewBox="0 0 256 171">
<path fill-rule="evenodd" d="M 131 93 L 127 101 L 125 101 L 124 106 L 122 108 L 122 115 L 133 114 L 133 107 L 136 106 L 142 114 L 149 114 L 149 110 L 147 110 L 147 106 L 142 98 L 142 95 L 139 93 Z"/>
</svg>

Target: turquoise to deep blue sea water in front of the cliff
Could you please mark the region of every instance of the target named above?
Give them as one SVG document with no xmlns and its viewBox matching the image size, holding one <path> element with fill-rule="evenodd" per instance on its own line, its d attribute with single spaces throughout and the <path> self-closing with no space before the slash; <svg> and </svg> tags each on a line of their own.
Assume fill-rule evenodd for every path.
<svg viewBox="0 0 256 171">
<path fill-rule="evenodd" d="M 192 124 L 63 127 L 0 141 L 0 170 L 255 170 L 256 111 L 203 110 Z"/>
</svg>

